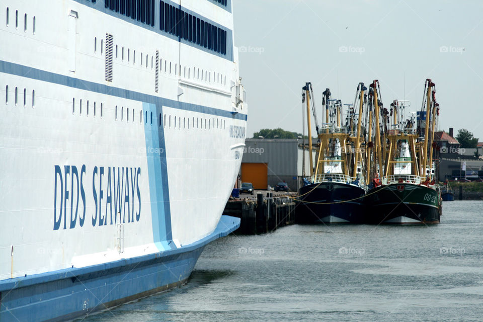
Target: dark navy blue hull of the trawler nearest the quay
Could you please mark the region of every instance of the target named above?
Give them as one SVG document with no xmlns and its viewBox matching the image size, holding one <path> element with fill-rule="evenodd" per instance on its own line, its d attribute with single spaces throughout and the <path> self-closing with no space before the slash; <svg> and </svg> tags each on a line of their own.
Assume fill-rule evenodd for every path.
<svg viewBox="0 0 483 322">
<path fill-rule="evenodd" d="M 316 183 L 300 188 L 299 192 L 302 197 L 297 206 L 298 223 L 365 222 L 362 188 L 344 183 Z"/>
</svg>

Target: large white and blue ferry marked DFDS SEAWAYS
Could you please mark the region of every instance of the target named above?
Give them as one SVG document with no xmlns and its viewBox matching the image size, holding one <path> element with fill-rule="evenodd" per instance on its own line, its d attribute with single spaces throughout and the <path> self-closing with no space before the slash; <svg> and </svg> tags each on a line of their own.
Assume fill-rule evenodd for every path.
<svg viewBox="0 0 483 322">
<path fill-rule="evenodd" d="M 0 0 L 0 320 L 185 282 L 243 154 L 230 0 Z"/>
</svg>

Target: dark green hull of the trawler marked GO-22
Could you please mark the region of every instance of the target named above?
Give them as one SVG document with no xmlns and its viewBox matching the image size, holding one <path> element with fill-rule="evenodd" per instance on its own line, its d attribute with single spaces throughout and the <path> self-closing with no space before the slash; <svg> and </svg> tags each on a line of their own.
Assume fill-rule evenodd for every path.
<svg viewBox="0 0 483 322">
<path fill-rule="evenodd" d="M 371 224 L 436 224 L 441 219 L 439 191 L 401 183 L 370 190 L 365 202 Z"/>
</svg>

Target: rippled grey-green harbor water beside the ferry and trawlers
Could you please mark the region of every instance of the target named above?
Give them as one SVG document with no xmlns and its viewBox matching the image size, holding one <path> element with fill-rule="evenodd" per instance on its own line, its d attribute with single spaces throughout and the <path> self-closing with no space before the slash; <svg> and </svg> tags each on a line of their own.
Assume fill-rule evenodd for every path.
<svg viewBox="0 0 483 322">
<path fill-rule="evenodd" d="M 188 283 L 84 321 L 480 321 L 483 201 L 441 223 L 292 225 L 209 244 Z"/>
</svg>

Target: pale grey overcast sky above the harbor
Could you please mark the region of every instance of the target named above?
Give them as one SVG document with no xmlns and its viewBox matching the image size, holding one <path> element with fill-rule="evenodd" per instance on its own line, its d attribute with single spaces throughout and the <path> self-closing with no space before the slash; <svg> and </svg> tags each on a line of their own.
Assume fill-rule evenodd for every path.
<svg viewBox="0 0 483 322">
<path fill-rule="evenodd" d="M 436 84 L 440 129 L 483 141 L 483 1 L 233 0 L 234 39 L 249 99 L 247 135 L 302 131 L 301 89 L 353 103 L 359 82 L 379 79 L 394 99 L 421 109 Z"/>
</svg>

